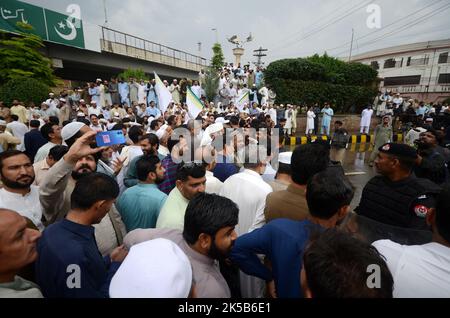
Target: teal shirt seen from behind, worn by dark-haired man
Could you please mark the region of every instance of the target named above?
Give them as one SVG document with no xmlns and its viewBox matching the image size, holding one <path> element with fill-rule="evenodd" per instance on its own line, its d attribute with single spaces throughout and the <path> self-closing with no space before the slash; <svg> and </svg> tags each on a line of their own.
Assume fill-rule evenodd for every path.
<svg viewBox="0 0 450 318">
<path fill-rule="evenodd" d="M 155 228 L 166 199 L 167 195 L 156 184 L 139 183 L 127 189 L 116 204 L 127 232 Z"/>
</svg>

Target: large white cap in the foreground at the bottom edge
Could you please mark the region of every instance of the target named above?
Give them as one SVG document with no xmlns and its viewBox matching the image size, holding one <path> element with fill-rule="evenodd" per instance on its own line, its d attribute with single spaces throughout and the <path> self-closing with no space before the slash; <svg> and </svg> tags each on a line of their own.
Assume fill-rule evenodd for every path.
<svg viewBox="0 0 450 318">
<path fill-rule="evenodd" d="M 192 267 L 172 241 L 154 239 L 131 247 L 109 285 L 111 298 L 187 298 Z"/>
</svg>

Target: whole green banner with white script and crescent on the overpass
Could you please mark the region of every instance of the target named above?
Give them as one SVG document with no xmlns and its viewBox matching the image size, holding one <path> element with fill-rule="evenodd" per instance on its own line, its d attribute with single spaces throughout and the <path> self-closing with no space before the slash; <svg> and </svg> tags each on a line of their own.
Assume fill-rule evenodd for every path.
<svg viewBox="0 0 450 318">
<path fill-rule="evenodd" d="M 33 29 L 23 29 L 17 22 L 29 24 Z M 13 33 L 32 33 L 44 41 L 85 48 L 81 20 L 21 1 L 1 1 L 0 29 Z"/>
</svg>

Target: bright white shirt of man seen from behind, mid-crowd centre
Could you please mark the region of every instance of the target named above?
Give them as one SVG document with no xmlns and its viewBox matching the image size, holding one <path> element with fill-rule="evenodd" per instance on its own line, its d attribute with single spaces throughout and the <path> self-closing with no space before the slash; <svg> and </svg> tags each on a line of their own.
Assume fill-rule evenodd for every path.
<svg viewBox="0 0 450 318">
<path fill-rule="evenodd" d="M 236 233 L 242 235 L 262 227 L 266 221 L 264 208 L 272 187 L 255 171 L 244 171 L 229 177 L 223 184 L 221 196 L 234 201 L 239 207 Z"/>
</svg>

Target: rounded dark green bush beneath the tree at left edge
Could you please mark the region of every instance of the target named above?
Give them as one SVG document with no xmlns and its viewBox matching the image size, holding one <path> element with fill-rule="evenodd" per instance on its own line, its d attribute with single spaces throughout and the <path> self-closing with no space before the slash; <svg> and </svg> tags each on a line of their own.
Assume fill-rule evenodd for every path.
<svg viewBox="0 0 450 318">
<path fill-rule="evenodd" d="M 40 105 L 42 101 L 48 98 L 50 88 L 34 78 L 17 78 L 8 81 L 0 87 L 0 100 L 6 105 L 11 105 L 12 101 L 17 99 L 24 103 L 33 102 Z"/>
</svg>

